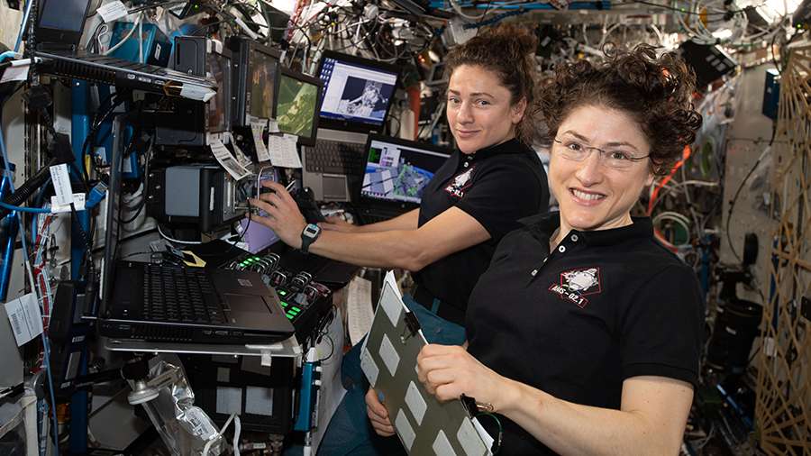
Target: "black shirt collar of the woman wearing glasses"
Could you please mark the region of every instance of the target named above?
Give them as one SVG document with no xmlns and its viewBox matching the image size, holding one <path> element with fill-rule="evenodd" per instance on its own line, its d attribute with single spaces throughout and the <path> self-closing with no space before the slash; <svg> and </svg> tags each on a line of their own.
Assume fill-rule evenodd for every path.
<svg viewBox="0 0 811 456">
<path fill-rule="evenodd" d="M 610 230 L 597 230 L 580 232 L 581 239 L 589 247 L 616 245 L 620 242 L 634 238 L 649 238 L 653 236 L 653 222 L 651 217 L 631 217 L 633 223 Z M 519 221 L 527 226 L 536 237 L 551 238 L 552 233 L 560 227 L 560 212 L 548 212 L 526 217 Z"/>
</svg>

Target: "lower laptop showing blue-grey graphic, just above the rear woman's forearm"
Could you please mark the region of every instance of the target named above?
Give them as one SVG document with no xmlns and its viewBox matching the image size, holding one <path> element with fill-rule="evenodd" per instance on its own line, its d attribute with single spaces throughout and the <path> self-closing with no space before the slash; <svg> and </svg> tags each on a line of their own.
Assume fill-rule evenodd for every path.
<svg viewBox="0 0 811 456">
<path fill-rule="evenodd" d="M 366 171 L 355 194 L 359 224 L 394 218 L 420 206 L 423 189 L 452 150 L 426 142 L 369 134 Z"/>
</svg>

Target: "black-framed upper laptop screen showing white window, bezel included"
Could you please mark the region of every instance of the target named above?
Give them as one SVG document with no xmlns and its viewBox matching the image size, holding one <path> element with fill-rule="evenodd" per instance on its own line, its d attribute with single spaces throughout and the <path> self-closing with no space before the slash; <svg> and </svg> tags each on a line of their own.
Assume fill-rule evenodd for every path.
<svg viewBox="0 0 811 456">
<path fill-rule="evenodd" d="M 324 50 L 318 78 L 323 80 L 321 125 L 353 132 L 382 132 L 400 68 L 384 62 Z"/>
</svg>

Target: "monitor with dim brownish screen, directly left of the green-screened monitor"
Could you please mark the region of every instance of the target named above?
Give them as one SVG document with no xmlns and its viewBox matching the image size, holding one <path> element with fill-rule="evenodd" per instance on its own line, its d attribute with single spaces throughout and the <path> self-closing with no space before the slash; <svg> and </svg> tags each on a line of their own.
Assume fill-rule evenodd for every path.
<svg viewBox="0 0 811 456">
<path fill-rule="evenodd" d="M 233 126 L 250 127 L 251 117 L 275 119 L 278 50 L 238 37 L 229 41 L 229 48 L 233 52 Z"/>
</svg>

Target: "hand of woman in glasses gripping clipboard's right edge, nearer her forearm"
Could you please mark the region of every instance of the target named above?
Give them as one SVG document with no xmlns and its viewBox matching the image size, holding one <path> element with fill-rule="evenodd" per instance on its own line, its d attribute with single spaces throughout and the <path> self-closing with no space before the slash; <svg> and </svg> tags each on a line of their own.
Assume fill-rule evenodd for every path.
<svg viewBox="0 0 811 456">
<path fill-rule="evenodd" d="M 495 411 L 504 403 L 509 381 L 459 345 L 425 345 L 417 364 L 420 381 L 442 402 L 464 394 L 491 404 Z"/>
</svg>

